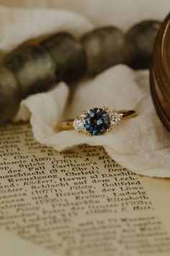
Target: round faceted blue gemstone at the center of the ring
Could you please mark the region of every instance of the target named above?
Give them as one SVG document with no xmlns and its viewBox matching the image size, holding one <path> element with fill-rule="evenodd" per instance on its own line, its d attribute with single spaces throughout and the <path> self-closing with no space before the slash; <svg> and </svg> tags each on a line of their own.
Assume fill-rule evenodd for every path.
<svg viewBox="0 0 170 256">
<path fill-rule="evenodd" d="M 83 127 L 91 135 L 102 135 L 110 126 L 107 111 L 102 108 L 91 108 L 83 119 Z"/>
</svg>

